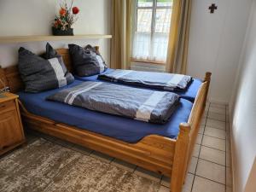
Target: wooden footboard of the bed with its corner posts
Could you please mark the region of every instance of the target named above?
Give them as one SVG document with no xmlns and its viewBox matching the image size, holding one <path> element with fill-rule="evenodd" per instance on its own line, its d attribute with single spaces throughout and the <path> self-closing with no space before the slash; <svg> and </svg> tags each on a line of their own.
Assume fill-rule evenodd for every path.
<svg viewBox="0 0 256 192">
<path fill-rule="evenodd" d="M 205 81 L 201 84 L 200 90 L 195 98 L 188 123 L 182 123 L 179 126 L 180 131 L 177 137 L 172 166 L 172 192 L 182 191 L 199 131 L 201 117 L 206 107 L 211 75 L 212 73 L 206 73 Z"/>
</svg>

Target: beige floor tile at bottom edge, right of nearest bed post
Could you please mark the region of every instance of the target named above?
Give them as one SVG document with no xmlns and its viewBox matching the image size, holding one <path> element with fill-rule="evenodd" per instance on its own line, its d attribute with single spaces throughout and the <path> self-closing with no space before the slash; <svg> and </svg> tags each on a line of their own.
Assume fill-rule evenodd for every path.
<svg viewBox="0 0 256 192">
<path fill-rule="evenodd" d="M 192 192 L 225 192 L 224 184 L 195 176 Z"/>
</svg>

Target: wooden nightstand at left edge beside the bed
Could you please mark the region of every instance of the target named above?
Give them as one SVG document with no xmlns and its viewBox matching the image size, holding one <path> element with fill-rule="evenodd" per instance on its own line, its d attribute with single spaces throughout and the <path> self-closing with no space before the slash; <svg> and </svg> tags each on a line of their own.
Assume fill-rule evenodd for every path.
<svg viewBox="0 0 256 192">
<path fill-rule="evenodd" d="M 26 142 L 18 97 L 9 92 L 0 94 L 0 155 Z"/>
</svg>

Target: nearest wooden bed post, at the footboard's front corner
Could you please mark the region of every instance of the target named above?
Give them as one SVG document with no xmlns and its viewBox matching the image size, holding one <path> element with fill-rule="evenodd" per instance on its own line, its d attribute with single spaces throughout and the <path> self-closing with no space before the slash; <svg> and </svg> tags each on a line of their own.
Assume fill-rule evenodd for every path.
<svg viewBox="0 0 256 192">
<path fill-rule="evenodd" d="M 182 191 L 184 179 L 187 174 L 187 161 L 189 157 L 189 132 L 191 126 L 188 123 L 181 123 L 179 129 L 172 166 L 172 192 Z"/>
</svg>

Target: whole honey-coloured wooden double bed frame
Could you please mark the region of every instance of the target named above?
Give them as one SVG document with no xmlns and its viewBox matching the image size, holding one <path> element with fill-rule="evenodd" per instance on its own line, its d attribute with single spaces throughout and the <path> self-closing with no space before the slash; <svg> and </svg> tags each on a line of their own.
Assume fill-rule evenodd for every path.
<svg viewBox="0 0 256 192">
<path fill-rule="evenodd" d="M 57 52 L 62 55 L 67 69 L 73 72 L 68 49 L 57 49 Z M 201 84 L 195 98 L 189 121 L 187 123 L 181 122 L 179 125 L 180 132 L 177 139 L 150 135 L 144 137 L 138 143 L 125 143 L 112 137 L 105 137 L 34 115 L 29 113 L 21 102 L 20 113 L 23 124 L 27 128 L 59 137 L 68 142 L 91 148 L 150 171 L 172 177 L 171 191 L 181 192 L 199 131 L 201 116 L 206 106 L 211 74 L 206 73 L 204 83 Z M 13 93 L 23 88 L 17 66 L 0 67 L 0 78 Z"/>
</svg>

